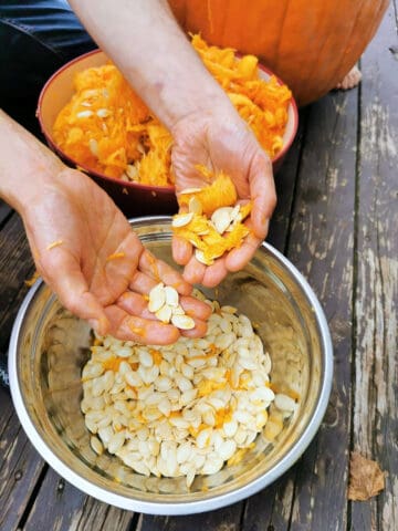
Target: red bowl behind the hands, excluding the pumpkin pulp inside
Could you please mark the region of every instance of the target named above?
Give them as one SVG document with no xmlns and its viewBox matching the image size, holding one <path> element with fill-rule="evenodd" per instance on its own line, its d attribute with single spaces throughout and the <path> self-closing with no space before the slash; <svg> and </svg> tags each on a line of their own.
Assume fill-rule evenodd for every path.
<svg viewBox="0 0 398 531">
<path fill-rule="evenodd" d="M 73 77 L 76 72 L 105 64 L 107 56 L 101 50 L 80 55 L 78 58 L 64 64 L 57 70 L 43 86 L 38 104 L 36 115 L 40 122 L 43 135 L 49 146 L 63 159 L 69 166 L 82 168 L 90 175 L 115 201 L 121 210 L 127 217 L 175 214 L 178 209 L 174 186 L 148 186 L 138 183 L 127 183 L 113 177 L 107 177 L 97 171 L 93 171 L 77 164 L 70 158 L 53 139 L 53 124 L 60 111 L 71 100 L 74 92 Z M 272 73 L 264 66 L 260 66 L 260 75 L 268 80 Z M 280 80 L 282 83 L 282 81 Z M 283 148 L 272 159 L 274 171 L 276 171 L 292 142 L 295 137 L 298 125 L 297 106 L 292 97 L 289 105 L 289 118 L 286 131 L 283 136 Z"/>
</svg>

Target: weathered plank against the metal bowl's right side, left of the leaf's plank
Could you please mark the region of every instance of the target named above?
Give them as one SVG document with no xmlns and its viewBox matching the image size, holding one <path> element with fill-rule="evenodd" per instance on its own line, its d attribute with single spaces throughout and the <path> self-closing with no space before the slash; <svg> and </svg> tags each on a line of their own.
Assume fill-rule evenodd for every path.
<svg viewBox="0 0 398 531">
<path fill-rule="evenodd" d="M 345 529 L 356 110 L 357 90 L 311 106 L 287 248 L 331 326 L 336 366 L 329 406 L 317 437 L 276 491 L 265 489 L 248 501 L 244 531 L 254 519 L 260 529 L 326 529 L 325 522 L 327 529 Z"/>
</svg>

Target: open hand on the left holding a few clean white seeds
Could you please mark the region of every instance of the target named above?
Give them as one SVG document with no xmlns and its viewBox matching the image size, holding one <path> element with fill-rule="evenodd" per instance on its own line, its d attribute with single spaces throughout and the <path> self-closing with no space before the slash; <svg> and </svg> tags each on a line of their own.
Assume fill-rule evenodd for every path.
<svg viewBox="0 0 398 531">
<path fill-rule="evenodd" d="M 145 295 L 158 282 L 172 285 L 205 334 L 208 304 L 191 285 L 146 250 L 112 199 L 84 174 L 63 169 L 23 211 L 39 273 L 61 303 L 100 333 L 146 344 L 169 344 L 180 332 L 158 321 Z"/>
</svg>

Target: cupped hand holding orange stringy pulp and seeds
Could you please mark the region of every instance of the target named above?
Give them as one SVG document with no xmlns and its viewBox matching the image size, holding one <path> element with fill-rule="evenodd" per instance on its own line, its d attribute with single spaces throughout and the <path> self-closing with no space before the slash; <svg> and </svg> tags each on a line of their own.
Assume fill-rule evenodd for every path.
<svg viewBox="0 0 398 531">
<path fill-rule="evenodd" d="M 209 184 L 196 169 L 203 165 L 214 173 L 228 174 L 238 198 L 250 199 L 253 205 L 247 220 L 251 233 L 240 248 L 232 249 L 212 266 L 200 263 L 192 254 L 192 246 L 174 237 L 172 254 L 177 263 L 185 266 L 184 278 L 190 283 L 214 287 L 229 271 L 241 270 L 266 236 L 276 204 L 272 163 L 232 105 L 184 117 L 175 125 L 172 136 L 177 196 L 186 188 L 202 188 Z"/>
</svg>

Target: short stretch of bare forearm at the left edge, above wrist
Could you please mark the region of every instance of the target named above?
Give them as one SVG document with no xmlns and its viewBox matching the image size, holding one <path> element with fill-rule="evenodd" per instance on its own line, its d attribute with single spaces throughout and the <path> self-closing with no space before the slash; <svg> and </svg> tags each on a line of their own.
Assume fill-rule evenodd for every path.
<svg viewBox="0 0 398 531">
<path fill-rule="evenodd" d="M 1 110 L 0 139 L 0 197 L 22 215 L 64 166 Z"/>
</svg>

